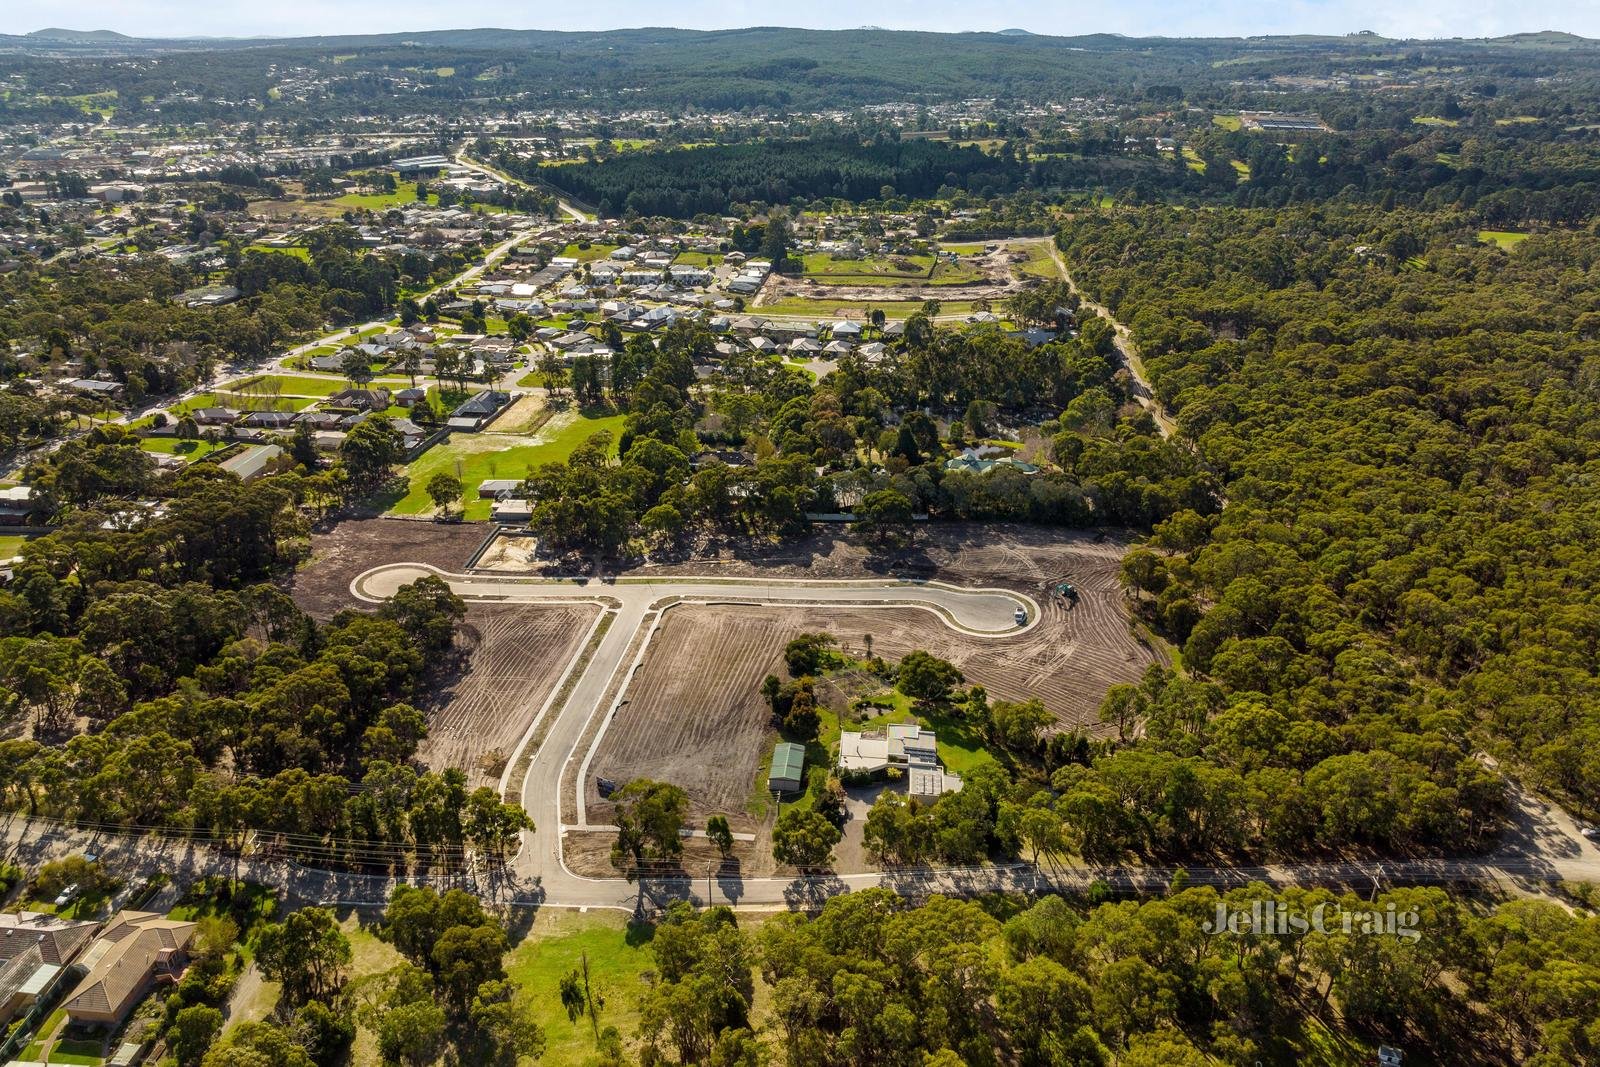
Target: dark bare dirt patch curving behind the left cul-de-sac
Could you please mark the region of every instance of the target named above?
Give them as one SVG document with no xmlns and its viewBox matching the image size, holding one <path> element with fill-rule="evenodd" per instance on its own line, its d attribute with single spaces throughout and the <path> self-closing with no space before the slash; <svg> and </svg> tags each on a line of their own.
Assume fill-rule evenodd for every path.
<svg viewBox="0 0 1600 1067">
<path fill-rule="evenodd" d="M 384 563 L 429 563 L 466 569 L 483 542 L 483 523 L 430 523 L 413 518 L 347 518 L 310 539 L 310 563 L 288 582 L 294 603 L 318 619 L 357 606 L 350 581 Z"/>
</svg>

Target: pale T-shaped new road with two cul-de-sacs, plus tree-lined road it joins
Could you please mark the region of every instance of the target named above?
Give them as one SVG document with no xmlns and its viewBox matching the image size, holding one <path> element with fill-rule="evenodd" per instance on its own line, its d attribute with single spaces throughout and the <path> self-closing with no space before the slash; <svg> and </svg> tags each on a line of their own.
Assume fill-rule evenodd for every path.
<svg viewBox="0 0 1600 1067">
<path fill-rule="evenodd" d="M 1101 880 L 1115 889 L 1163 889 L 1176 869 L 1163 867 L 1034 867 L 1011 864 L 976 869 L 910 869 L 848 875 L 816 875 L 794 878 L 742 878 L 738 873 L 706 872 L 693 875 L 670 872 L 646 875 L 637 881 L 624 878 L 590 878 L 573 873 L 562 859 L 562 782 L 574 760 L 587 766 L 584 747 L 595 715 L 614 713 L 626 696 L 626 683 L 643 659 L 645 637 L 658 624 L 661 613 L 675 603 L 752 603 L 752 605 L 840 605 L 923 608 L 942 625 L 978 637 L 1011 637 L 1038 621 L 1038 605 L 1030 598 L 1002 589 L 962 589 L 938 582 L 882 581 L 781 581 L 781 579 L 616 579 L 562 581 L 534 577 L 499 577 L 491 574 L 451 574 L 418 563 L 381 566 L 358 576 L 350 590 L 365 601 L 381 601 L 402 585 L 437 574 L 469 601 L 483 603 L 590 603 L 600 616 L 590 629 L 584 648 L 568 664 L 554 693 L 539 709 L 528 734 L 501 781 L 509 789 L 522 750 L 542 729 L 522 781 L 522 803 L 536 824 L 525 837 L 509 878 L 491 893 L 510 904 L 542 904 L 555 907 L 650 909 L 669 899 L 691 899 L 696 904 L 734 904 L 755 909 L 813 907 L 829 896 L 888 886 L 907 894 L 949 893 L 974 894 L 992 891 L 1083 891 Z M 1018 625 L 1014 613 L 1022 608 L 1027 622 Z M 602 630 L 602 622 L 610 625 Z M 595 637 L 598 635 L 598 637 Z M 630 656 L 632 654 L 632 656 Z M 587 657 L 586 657 L 587 656 Z M 550 720 L 546 723 L 546 720 Z M 579 785 L 584 774 L 578 776 Z M 582 789 L 570 803 L 581 811 Z M 1344 861 L 1325 864 L 1282 865 L 1216 865 L 1187 867 L 1192 885 L 1218 888 L 1245 886 L 1251 881 L 1269 885 L 1346 886 L 1366 891 L 1379 885 L 1448 885 L 1496 883 L 1501 886 L 1538 888 L 1560 880 L 1600 880 L 1600 846 L 1586 840 L 1579 827 L 1558 808 L 1546 805 L 1512 787 L 1512 825 L 1498 851 L 1482 857 L 1426 857 L 1402 861 Z M 315 883 L 312 872 L 302 880 Z M 307 886 L 309 888 L 309 886 Z M 349 894 L 355 886 L 339 889 Z M 382 899 L 379 886 L 371 886 L 373 899 Z"/>
</svg>

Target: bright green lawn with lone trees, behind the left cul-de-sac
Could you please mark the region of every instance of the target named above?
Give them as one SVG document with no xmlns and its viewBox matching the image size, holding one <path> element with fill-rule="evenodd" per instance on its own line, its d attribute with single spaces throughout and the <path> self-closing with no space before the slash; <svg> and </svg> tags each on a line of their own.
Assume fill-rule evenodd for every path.
<svg viewBox="0 0 1600 1067">
<path fill-rule="evenodd" d="M 522 478 L 547 462 L 560 462 L 573 454 L 592 434 L 622 432 L 624 416 L 586 419 L 558 416 L 536 437 L 509 434 L 456 434 L 448 442 L 429 448 L 406 467 L 410 493 L 389 509 L 392 515 L 426 515 L 434 510 L 424 486 L 440 470 L 461 478 L 466 491 L 466 517 L 488 518 L 493 501 L 478 499 L 478 485 L 488 478 Z M 616 443 L 613 440 L 613 450 Z"/>
</svg>

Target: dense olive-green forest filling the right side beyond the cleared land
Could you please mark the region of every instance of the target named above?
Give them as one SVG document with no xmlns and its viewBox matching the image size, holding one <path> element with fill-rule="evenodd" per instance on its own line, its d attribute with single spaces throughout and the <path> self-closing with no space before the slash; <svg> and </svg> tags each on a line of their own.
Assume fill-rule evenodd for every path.
<svg viewBox="0 0 1600 1067">
<path fill-rule="evenodd" d="M 1330 205 L 1083 216 L 1059 243 L 1227 498 L 1125 566 L 1226 694 L 1147 747 L 1288 769 L 1269 827 L 1302 795 L 1323 845 L 1466 840 L 1498 792 L 1478 747 L 1594 811 L 1600 238 L 1506 254 Z"/>
</svg>

